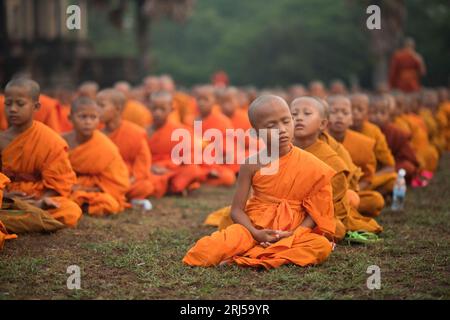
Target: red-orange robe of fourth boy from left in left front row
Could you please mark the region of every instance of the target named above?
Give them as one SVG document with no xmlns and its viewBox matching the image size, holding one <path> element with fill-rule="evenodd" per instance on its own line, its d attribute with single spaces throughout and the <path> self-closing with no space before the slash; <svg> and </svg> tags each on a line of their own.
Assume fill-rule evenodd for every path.
<svg viewBox="0 0 450 320">
<path fill-rule="evenodd" d="M 172 121 L 166 121 L 166 123 L 156 129 L 153 134 L 148 137 L 148 145 L 152 151 L 153 164 L 163 167 L 168 170 L 167 176 L 170 179 L 169 184 L 166 185 L 164 191 L 160 191 L 162 194 L 167 192 L 181 193 L 184 190 L 189 190 L 192 187 L 196 187 L 196 182 L 203 180 L 204 172 L 199 165 L 191 163 L 175 164 L 172 161 L 172 150 L 179 143 L 178 141 L 171 141 L 172 133 L 174 130 L 184 129 L 189 132 L 191 136 L 191 145 L 195 143 L 192 141 L 192 130 L 182 124 L 176 124 Z M 192 155 L 192 148 L 190 150 Z M 183 156 L 182 154 L 180 156 Z M 193 159 L 191 158 L 191 161 Z"/>
</svg>

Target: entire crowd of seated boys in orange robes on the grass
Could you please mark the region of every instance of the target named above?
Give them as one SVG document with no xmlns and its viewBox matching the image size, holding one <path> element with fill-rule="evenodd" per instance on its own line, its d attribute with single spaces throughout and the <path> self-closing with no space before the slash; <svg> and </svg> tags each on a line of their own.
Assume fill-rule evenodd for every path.
<svg viewBox="0 0 450 320">
<path fill-rule="evenodd" d="M 315 82 L 290 95 L 211 85 L 185 93 L 162 76 L 139 90 L 119 82 L 99 91 L 88 82 L 63 99 L 15 78 L 0 96 L 1 245 L 15 233 L 75 227 L 83 213 L 124 212 L 133 199 L 236 184 L 231 206 L 205 221 L 219 230 L 200 239 L 185 264 L 321 263 L 346 232 L 382 232 L 375 218 L 398 169 L 425 186 L 450 149 L 446 89 L 348 94 L 340 84 L 330 91 Z M 278 171 L 262 174 L 258 154 L 246 154 L 256 161 L 245 164 L 175 163 L 172 133 L 192 132 L 194 120 L 223 135 L 277 130 Z"/>
</svg>

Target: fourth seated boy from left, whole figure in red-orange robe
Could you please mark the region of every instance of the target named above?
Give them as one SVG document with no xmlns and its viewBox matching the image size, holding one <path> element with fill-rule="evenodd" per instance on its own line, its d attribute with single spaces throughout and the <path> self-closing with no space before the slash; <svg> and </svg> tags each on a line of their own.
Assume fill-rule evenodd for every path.
<svg viewBox="0 0 450 320">
<path fill-rule="evenodd" d="M 153 115 L 153 124 L 147 129 L 148 146 L 152 151 L 153 165 L 152 172 L 155 176 L 164 180 L 167 177 L 168 183 L 159 183 L 157 194 L 163 196 L 166 193 L 186 195 L 188 191 L 199 187 L 199 181 L 202 180 L 203 170 L 200 166 L 193 164 L 189 156 L 190 163 L 178 163 L 179 159 L 174 159 L 172 155 L 175 146 L 180 143 L 173 139 L 174 131 L 185 130 L 191 139 L 193 132 L 188 126 L 169 121 L 169 115 L 173 109 L 172 94 L 167 91 L 153 93 L 150 100 L 150 108 Z M 192 155 L 194 141 L 185 146 L 189 150 L 183 150 Z M 199 143 L 201 143 L 199 141 Z M 185 154 L 177 156 L 184 157 Z"/>
</svg>

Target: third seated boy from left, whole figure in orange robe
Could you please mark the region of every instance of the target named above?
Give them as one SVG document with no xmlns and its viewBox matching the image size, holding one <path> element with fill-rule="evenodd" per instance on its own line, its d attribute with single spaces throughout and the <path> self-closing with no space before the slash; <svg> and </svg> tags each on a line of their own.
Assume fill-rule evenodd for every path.
<svg viewBox="0 0 450 320">
<path fill-rule="evenodd" d="M 152 158 L 147 145 L 147 134 L 140 126 L 123 120 L 121 112 L 125 96 L 118 90 L 105 89 L 97 94 L 101 110 L 100 120 L 105 124 L 105 133 L 119 148 L 130 175 L 128 199 L 145 199 L 155 191 L 150 172 Z"/>
</svg>

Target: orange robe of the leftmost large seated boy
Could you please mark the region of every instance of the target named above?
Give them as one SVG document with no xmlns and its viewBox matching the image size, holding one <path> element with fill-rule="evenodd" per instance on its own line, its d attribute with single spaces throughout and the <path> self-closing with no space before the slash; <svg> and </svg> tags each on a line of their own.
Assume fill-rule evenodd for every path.
<svg viewBox="0 0 450 320">
<path fill-rule="evenodd" d="M 8 191 L 21 191 L 41 197 L 45 189 L 59 193 L 51 199 L 59 208 L 47 210 L 66 226 L 81 218 L 80 207 L 69 200 L 76 176 L 69 162 L 67 144 L 52 129 L 38 121 L 17 136 L 2 152 L 2 172 L 10 179 Z"/>
</svg>

